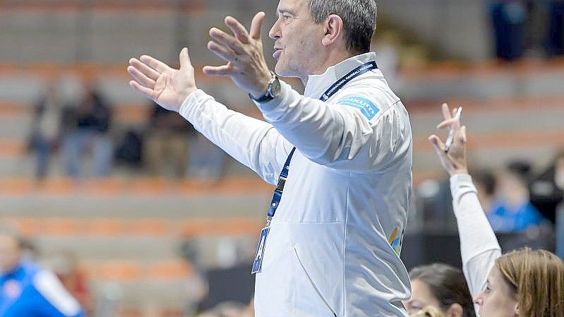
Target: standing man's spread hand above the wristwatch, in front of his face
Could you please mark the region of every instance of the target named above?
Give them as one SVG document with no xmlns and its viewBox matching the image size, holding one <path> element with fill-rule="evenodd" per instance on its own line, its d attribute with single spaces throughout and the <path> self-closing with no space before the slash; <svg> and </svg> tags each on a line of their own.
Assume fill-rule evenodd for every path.
<svg viewBox="0 0 564 317">
<path fill-rule="evenodd" d="M 229 76 L 239 88 L 260 97 L 268 88 L 268 80 L 272 77 L 265 61 L 263 42 L 260 39 L 260 27 L 265 18 L 259 12 L 251 22 L 251 32 L 238 20 L 227 16 L 225 24 L 232 31 L 229 35 L 217 28 L 210 29 L 213 41 L 208 42 L 208 49 L 219 56 L 227 64 L 223 66 L 205 66 L 205 74 Z"/>
</svg>

